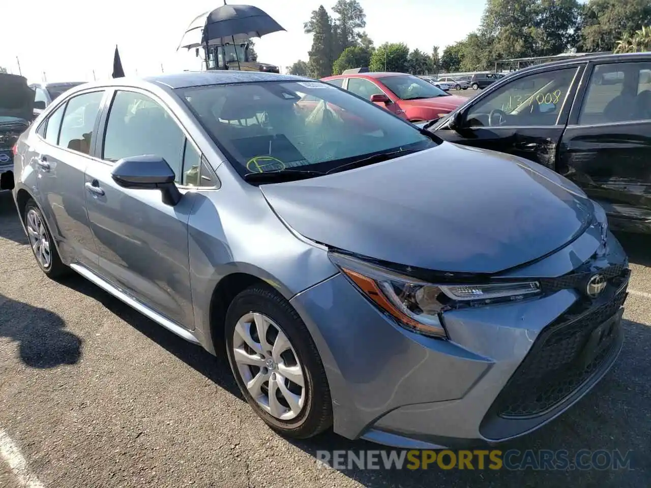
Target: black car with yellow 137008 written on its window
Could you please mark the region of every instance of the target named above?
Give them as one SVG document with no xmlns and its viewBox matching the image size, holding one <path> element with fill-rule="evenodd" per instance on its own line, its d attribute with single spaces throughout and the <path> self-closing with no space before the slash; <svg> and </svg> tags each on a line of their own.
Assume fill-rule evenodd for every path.
<svg viewBox="0 0 651 488">
<path fill-rule="evenodd" d="M 447 141 L 555 170 L 613 228 L 651 233 L 651 53 L 526 68 L 428 125 Z"/>
</svg>

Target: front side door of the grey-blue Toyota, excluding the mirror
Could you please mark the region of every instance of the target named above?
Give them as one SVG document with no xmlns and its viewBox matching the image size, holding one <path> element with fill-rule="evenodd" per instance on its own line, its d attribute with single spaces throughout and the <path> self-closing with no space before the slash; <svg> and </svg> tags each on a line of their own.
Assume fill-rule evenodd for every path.
<svg viewBox="0 0 651 488">
<path fill-rule="evenodd" d="M 197 194 L 191 189 L 213 184 L 201 152 L 171 110 L 148 92 L 116 90 L 100 131 L 98 159 L 87 167 L 85 179 L 100 275 L 161 316 L 193 329 L 187 221 Z M 159 191 L 120 187 L 111 178 L 118 160 L 145 154 L 163 157 L 174 170 L 183 194 L 176 206 L 164 204 Z"/>
</svg>

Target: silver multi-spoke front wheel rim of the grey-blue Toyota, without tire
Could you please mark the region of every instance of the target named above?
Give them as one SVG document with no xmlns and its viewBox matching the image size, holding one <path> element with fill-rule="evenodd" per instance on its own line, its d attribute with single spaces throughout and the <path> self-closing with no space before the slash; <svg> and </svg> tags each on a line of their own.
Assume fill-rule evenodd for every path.
<svg viewBox="0 0 651 488">
<path fill-rule="evenodd" d="M 305 378 L 296 349 L 283 329 L 250 312 L 233 331 L 233 357 L 249 394 L 271 416 L 292 420 L 305 404 Z"/>
</svg>

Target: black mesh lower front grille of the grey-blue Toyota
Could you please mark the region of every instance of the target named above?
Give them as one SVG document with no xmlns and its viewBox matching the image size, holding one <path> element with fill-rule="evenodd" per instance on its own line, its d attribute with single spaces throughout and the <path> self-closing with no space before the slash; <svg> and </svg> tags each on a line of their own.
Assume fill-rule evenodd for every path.
<svg viewBox="0 0 651 488">
<path fill-rule="evenodd" d="M 610 293 L 618 289 L 615 286 L 620 287 L 611 299 L 592 305 L 593 308 L 587 308 L 586 302 L 579 302 L 540 333 L 493 404 L 499 416 L 527 418 L 542 415 L 600 369 L 616 345 L 616 331 L 603 339 L 602 349 L 590 362 L 583 360 L 582 353 L 590 334 L 624 305 L 628 269 L 622 268 L 620 273 L 618 278 L 610 281 Z"/>
</svg>

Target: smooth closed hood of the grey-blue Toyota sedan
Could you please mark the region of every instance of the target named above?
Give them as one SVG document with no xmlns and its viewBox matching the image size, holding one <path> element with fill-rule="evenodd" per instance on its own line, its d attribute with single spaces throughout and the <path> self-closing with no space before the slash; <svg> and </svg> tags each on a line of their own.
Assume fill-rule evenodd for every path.
<svg viewBox="0 0 651 488">
<path fill-rule="evenodd" d="M 262 185 L 309 239 L 369 258 L 497 273 L 541 258 L 591 223 L 589 198 L 524 159 L 449 142 L 345 172 Z"/>
</svg>

